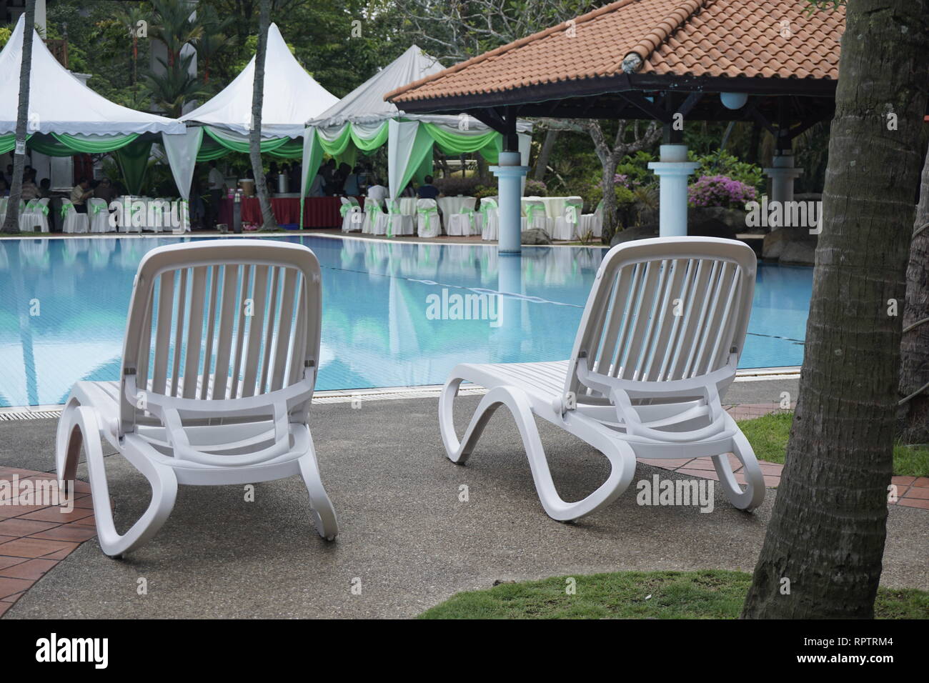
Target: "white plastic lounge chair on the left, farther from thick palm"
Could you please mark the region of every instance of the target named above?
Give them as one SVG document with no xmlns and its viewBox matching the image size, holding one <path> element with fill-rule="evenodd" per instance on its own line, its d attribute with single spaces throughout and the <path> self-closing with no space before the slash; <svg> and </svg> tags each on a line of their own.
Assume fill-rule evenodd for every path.
<svg viewBox="0 0 929 683">
<path fill-rule="evenodd" d="M 69 240 L 69 242 L 72 242 Z M 142 258 L 118 382 L 77 382 L 59 419 L 59 479 L 85 445 L 100 547 L 148 541 L 177 484 L 249 484 L 299 474 L 320 535 L 338 532 L 307 410 L 319 369 L 320 264 L 269 240 L 180 243 Z M 121 535 L 113 526 L 101 440 L 149 479 L 152 499 Z"/>
</svg>

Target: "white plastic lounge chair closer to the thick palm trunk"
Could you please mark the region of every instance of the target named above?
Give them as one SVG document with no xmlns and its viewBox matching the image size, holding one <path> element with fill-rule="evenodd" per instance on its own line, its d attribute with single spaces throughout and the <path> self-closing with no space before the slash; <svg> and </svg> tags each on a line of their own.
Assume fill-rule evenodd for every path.
<svg viewBox="0 0 929 683">
<path fill-rule="evenodd" d="M 752 311 L 751 247 L 708 237 L 620 244 L 597 270 L 569 361 L 456 367 L 438 406 L 445 450 L 463 463 L 491 414 L 506 405 L 516 420 L 545 512 L 579 519 L 616 500 L 635 458 L 713 456 L 726 497 L 752 510 L 765 480 L 752 446 L 723 410 Z M 452 403 L 463 380 L 489 389 L 459 441 Z M 612 469 L 575 503 L 558 495 L 535 417 L 603 453 Z M 726 453 L 742 463 L 743 491 Z"/>
</svg>

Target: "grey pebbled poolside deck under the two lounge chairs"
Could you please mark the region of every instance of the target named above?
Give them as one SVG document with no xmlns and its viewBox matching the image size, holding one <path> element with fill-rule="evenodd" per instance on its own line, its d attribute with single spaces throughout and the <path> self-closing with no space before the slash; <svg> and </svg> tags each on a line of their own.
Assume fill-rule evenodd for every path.
<svg viewBox="0 0 929 683">
<path fill-rule="evenodd" d="M 796 385 L 739 382 L 726 402 L 760 412 L 782 390 L 795 395 Z M 461 422 L 477 401 L 460 401 Z M 577 524 L 560 524 L 539 504 L 505 411 L 491 420 L 467 466 L 445 458 L 436 413 L 435 399 L 314 406 L 322 477 L 341 526 L 334 544 L 314 532 L 300 479 L 257 485 L 254 503 L 243 501 L 242 487 L 181 487 L 171 519 L 148 545 L 112 560 L 90 540 L 14 594 L 15 604 L 0 603 L 0 611 L 7 608 L 6 618 L 410 617 L 496 580 L 752 571 L 775 490 L 748 515 L 729 506 L 718 488 L 710 514 L 638 506 L 633 488 Z M 579 498 L 606 477 L 607 461 L 594 449 L 545 423 L 540 432 L 564 497 Z M 54 433 L 54 420 L 0 423 L 0 466 L 50 471 Z M 148 487 L 123 458 L 109 458 L 108 467 L 117 525 L 125 525 L 148 503 Z M 635 480 L 699 476 L 695 463 L 685 469 L 640 463 Z M 86 477 L 84 465 L 78 476 Z M 459 502 L 462 484 L 466 503 Z M 883 584 L 929 589 L 927 514 L 891 506 Z M 90 528 L 87 517 L 68 526 L 77 521 Z M 140 578 L 147 580 L 144 596 L 137 594 Z M 358 580 L 361 594 L 354 595 Z"/>
</svg>

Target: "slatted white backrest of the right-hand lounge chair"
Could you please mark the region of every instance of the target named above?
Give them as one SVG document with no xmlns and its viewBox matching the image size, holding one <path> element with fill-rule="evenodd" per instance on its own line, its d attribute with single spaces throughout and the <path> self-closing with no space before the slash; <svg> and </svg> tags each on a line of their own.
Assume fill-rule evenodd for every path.
<svg viewBox="0 0 929 683">
<path fill-rule="evenodd" d="M 613 247 L 587 299 L 566 395 L 577 401 L 601 396 L 578 379 L 582 363 L 632 390 L 676 380 L 696 386 L 687 380 L 713 373 L 721 384 L 730 382 L 752 312 L 756 268 L 752 248 L 734 240 L 657 238 Z"/>
</svg>

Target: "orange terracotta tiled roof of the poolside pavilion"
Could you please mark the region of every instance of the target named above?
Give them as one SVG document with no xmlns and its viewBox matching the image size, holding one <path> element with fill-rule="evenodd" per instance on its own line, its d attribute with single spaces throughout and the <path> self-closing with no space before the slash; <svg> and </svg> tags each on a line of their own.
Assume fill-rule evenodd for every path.
<svg viewBox="0 0 929 683">
<path fill-rule="evenodd" d="M 844 8 L 808 0 L 619 0 L 387 93 L 395 103 L 635 74 L 835 80 Z M 635 62 L 635 59 L 632 60 Z"/>
</svg>

